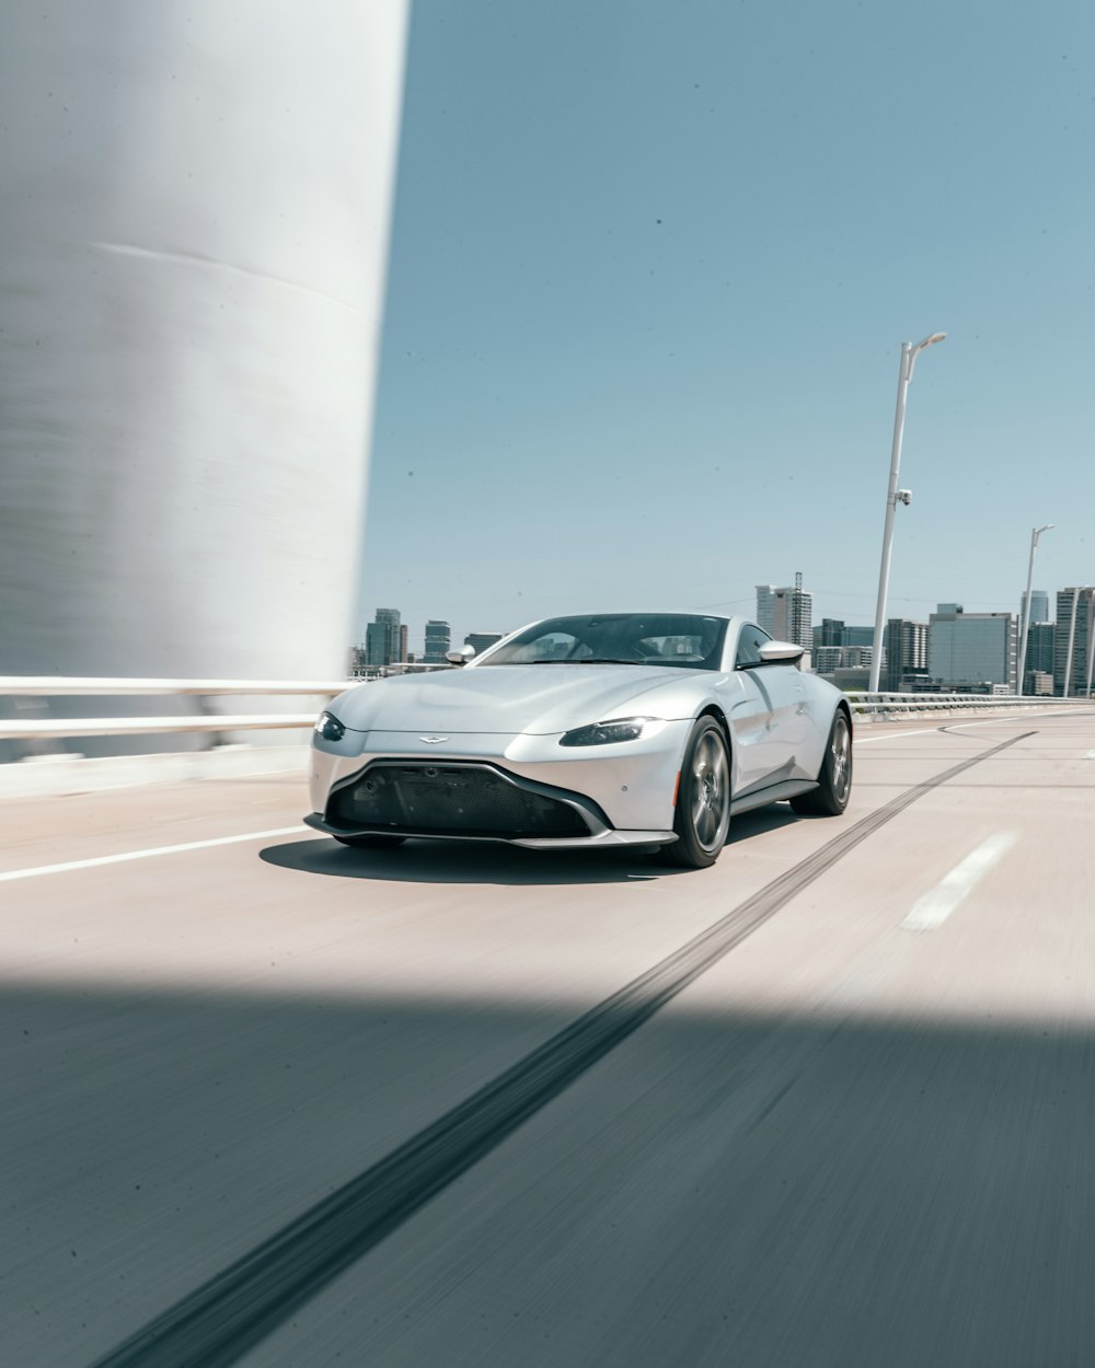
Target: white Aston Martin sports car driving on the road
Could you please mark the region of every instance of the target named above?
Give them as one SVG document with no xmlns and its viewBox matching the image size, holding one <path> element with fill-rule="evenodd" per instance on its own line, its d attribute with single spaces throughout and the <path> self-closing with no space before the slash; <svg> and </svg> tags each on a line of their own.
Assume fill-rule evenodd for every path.
<svg viewBox="0 0 1095 1368">
<path fill-rule="evenodd" d="M 345 845 L 647 845 L 712 865 L 735 813 L 847 806 L 851 714 L 801 655 L 740 617 L 534 622 L 463 669 L 334 699 L 315 726 L 305 821 Z"/>
</svg>

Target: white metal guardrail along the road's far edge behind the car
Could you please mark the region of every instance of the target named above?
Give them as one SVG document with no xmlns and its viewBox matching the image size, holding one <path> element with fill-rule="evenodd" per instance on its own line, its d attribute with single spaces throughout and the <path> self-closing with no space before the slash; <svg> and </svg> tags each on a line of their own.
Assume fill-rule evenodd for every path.
<svg viewBox="0 0 1095 1368">
<path fill-rule="evenodd" d="M 437 666 L 433 666 L 434 669 Z M 443 666 L 442 666 L 443 669 Z M 402 670 L 394 670 L 402 673 Z M 0 676 L 0 696 L 8 698 L 126 698 L 134 695 L 227 695 L 334 698 L 360 680 L 151 680 L 74 679 L 57 676 Z M 1047 707 L 1087 703 L 1090 699 L 1017 698 L 1006 694 L 866 694 L 850 691 L 854 713 L 879 718 L 921 713 L 987 709 Z M 59 740 L 68 736 L 142 736 L 170 732 L 245 732 L 304 729 L 313 725 L 316 711 L 194 714 L 189 717 L 34 717 L 0 720 L 0 740 Z"/>
</svg>

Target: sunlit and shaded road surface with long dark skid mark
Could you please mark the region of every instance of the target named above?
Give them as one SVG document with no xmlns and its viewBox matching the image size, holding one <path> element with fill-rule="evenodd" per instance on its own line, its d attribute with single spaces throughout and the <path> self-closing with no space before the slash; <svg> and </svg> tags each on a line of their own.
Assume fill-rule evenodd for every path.
<svg viewBox="0 0 1095 1368">
<path fill-rule="evenodd" d="M 1095 1364 L 1095 713 L 698 873 L 304 804 L 0 804 L 5 1368 Z"/>
</svg>

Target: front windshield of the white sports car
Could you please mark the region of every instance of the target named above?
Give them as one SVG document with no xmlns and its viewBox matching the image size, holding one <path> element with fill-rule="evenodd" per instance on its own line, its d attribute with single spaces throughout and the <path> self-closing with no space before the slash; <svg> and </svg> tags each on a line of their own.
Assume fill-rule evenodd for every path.
<svg viewBox="0 0 1095 1368">
<path fill-rule="evenodd" d="M 601 613 L 535 622 L 483 665 L 671 665 L 717 670 L 725 618 L 693 613 Z"/>
</svg>

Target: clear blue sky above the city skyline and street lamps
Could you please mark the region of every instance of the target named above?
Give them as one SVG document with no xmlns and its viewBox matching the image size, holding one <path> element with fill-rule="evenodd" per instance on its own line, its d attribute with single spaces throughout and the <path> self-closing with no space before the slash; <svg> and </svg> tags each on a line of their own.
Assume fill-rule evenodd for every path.
<svg viewBox="0 0 1095 1368">
<path fill-rule="evenodd" d="M 1095 580 L 1095 7 L 417 0 L 357 635 Z"/>
</svg>

